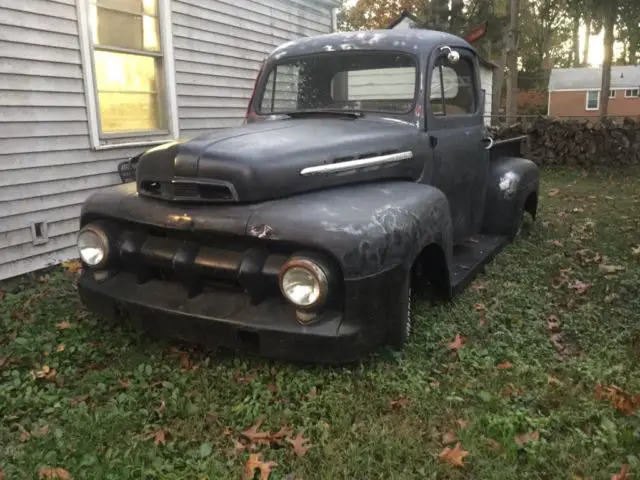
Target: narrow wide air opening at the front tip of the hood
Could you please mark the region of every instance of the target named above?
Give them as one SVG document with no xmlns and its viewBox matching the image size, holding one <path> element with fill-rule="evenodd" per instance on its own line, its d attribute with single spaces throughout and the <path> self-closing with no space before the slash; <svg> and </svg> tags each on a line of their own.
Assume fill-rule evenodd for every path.
<svg viewBox="0 0 640 480">
<path fill-rule="evenodd" d="M 172 201 L 237 201 L 237 196 L 233 186 L 222 181 L 219 181 L 219 183 L 199 183 L 187 181 L 155 182 L 144 180 L 140 182 L 140 193 Z"/>
</svg>

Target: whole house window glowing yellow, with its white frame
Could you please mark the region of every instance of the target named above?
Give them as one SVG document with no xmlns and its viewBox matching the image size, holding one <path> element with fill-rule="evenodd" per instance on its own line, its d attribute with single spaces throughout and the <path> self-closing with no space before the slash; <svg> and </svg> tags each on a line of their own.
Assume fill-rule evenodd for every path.
<svg viewBox="0 0 640 480">
<path fill-rule="evenodd" d="M 177 136 L 169 0 L 77 1 L 93 146 Z"/>
</svg>

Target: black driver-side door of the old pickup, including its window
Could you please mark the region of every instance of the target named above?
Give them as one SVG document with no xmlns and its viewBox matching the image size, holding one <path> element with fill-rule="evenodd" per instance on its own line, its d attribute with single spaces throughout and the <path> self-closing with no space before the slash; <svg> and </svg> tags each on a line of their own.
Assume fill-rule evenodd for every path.
<svg viewBox="0 0 640 480">
<path fill-rule="evenodd" d="M 428 62 L 425 126 L 433 158 L 431 183 L 449 199 L 454 243 L 482 225 L 489 156 L 477 60 L 467 49 L 441 47 Z"/>
</svg>

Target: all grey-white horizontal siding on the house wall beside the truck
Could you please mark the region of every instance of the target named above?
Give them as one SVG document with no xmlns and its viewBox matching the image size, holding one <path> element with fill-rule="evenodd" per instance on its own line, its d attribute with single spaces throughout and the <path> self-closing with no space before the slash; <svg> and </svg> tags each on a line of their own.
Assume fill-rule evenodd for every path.
<svg viewBox="0 0 640 480">
<path fill-rule="evenodd" d="M 180 136 L 238 125 L 261 60 L 331 31 L 323 0 L 174 0 Z M 83 201 L 144 147 L 93 151 L 76 0 L 0 0 L 0 279 L 76 256 Z M 47 222 L 34 245 L 31 226 Z"/>
</svg>

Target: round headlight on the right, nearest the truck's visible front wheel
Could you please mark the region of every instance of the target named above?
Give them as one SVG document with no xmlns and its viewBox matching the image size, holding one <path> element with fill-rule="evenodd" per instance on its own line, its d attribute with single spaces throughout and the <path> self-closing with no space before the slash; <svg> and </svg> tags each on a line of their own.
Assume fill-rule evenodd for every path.
<svg viewBox="0 0 640 480">
<path fill-rule="evenodd" d="M 280 290 L 296 307 L 319 307 L 327 296 L 327 276 L 319 265 L 310 260 L 292 260 L 283 268 Z"/>
</svg>

